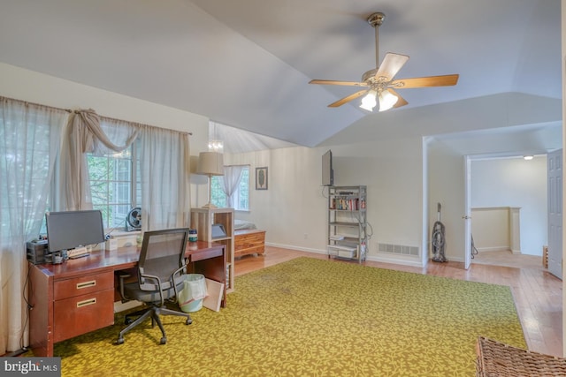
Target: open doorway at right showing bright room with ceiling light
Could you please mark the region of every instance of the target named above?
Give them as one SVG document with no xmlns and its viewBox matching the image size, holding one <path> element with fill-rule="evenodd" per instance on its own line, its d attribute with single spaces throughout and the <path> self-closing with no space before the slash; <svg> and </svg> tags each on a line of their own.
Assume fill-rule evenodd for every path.
<svg viewBox="0 0 566 377">
<path fill-rule="evenodd" d="M 470 158 L 470 174 L 467 175 L 466 186 L 470 190 L 470 207 L 515 208 L 518 220 L 520 213 L 520 230 L 516 240 L 512 232 L 506 240 L 474 234 L 471 238 L 477 253 L 470 250 L 470 262 L 490 264 L 512 268 L 543 269 L 543 247 L 547 245 L 547 155 L 536 155 L 532 160 L 524 160 L 524 156 L 474 156 Z M 467 204 L 468 206 L 468 204 Z M 509 210 L 509 214 L 513 211 Z M 474 222 L 472 213 L 471 222 Z M 486 224 L 486 219 L 476 216 L 478 230 Z M 491 227 L 493 228 L 493 227 Z M 493 229 L 491 229 L 493 230 Z M 506 230 L 501 230 L 505 232 Z M 501 236 L 501 234 L 500 234 Z M 517 245 L 518 244 L 518 245 Z M 470 249 L 472 249 L 470 247 Z M 513 252 L 512 252 L 513 251 Z"/>
</svg>

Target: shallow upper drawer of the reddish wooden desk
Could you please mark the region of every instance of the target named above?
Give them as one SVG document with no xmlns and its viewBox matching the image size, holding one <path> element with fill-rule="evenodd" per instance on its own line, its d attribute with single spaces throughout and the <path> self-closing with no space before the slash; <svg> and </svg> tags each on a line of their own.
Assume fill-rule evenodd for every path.
<svg viewBox="0 0 566 377">
<path fill-rule="evenodd" d="M 79 295 L 109 290 L 114 288 L 114 273 L 103 272 L 96 275 L 84 275 L 73 279 L 58 280 L 54 284 L 54 298 L 60 300 Z"/>
</svg>

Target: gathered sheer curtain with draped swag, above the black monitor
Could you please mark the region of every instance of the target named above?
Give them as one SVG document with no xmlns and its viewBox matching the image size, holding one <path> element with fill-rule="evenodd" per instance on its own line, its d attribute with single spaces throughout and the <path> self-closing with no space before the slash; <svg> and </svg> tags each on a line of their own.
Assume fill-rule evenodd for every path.
<svg viewBox="0 0 566 377">
<path fill-rule="evenodd" d="M 87 154 L 104 155 L 121 152 L 136 139 L 138 127 L 126 121 L 98 117 L 95 110 L 75 111 L 70 122 L 68 142 L 62 159 L 64 210 L 91 209 Z"/>
</svg>

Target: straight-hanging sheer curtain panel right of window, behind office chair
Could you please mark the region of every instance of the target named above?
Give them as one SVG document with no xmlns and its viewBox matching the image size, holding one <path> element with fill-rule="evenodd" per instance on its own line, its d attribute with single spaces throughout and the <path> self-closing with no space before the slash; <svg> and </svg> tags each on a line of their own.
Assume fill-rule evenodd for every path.
<svg viewBox="0 0 566 377">
<path fill-rule="evenodd" d="M 187 227 L 190 215 L 188 134 L 142 126 L 142 230 Z"/>
</svg>

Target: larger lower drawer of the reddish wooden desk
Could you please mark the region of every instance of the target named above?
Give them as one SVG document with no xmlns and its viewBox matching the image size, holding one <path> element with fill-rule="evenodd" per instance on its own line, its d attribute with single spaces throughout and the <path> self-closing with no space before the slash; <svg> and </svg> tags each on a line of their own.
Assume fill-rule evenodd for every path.
<svg viewBox="0 0 566 377">
<path fill-rule="evenodd" d="M 57 300 L 53 311 L 53 342 L 60 342 L 114 323 L 114 289 Z"/>
</svg>

